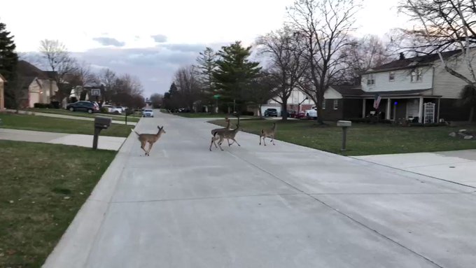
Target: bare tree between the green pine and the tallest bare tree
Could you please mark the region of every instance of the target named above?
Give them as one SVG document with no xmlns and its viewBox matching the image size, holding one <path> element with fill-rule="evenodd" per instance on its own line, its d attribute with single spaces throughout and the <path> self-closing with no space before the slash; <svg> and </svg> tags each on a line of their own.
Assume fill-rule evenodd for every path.
<svg viewBox="0 0 476 268">
<path fill-rule="evenodd" d="M 279 31 L 260 36 L 256 43 L 260 52 L 269 57 L 267 76 L 272 75 L 275 81 L 279 81 L 274 100 L 281 104 L 283 120 L 286 120 L 288 99 L 309 62 L 304 57 L 302 39 L 297 38 L 290 27 L 283 27 Z"/>
</svg>

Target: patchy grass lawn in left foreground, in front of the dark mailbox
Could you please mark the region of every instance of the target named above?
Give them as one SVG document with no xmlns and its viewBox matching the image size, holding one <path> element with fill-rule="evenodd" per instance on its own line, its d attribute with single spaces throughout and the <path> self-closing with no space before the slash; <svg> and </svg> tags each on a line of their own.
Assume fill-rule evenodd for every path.
<svg viewBox="0 0 476 268">
<path fill-rule="evenodd" d="M 116 152 L 0 141 L 0 155 L 0 267 L 41 267 Z"/>
</svg>

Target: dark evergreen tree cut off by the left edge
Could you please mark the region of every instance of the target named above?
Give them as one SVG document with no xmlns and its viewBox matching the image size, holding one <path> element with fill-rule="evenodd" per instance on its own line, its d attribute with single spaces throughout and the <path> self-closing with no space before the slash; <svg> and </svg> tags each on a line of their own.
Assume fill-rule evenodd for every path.
<svg viewBox="0 0 476 268">
<path fill-rule="evenodd" d="M 15 52 L 15 42 L 6 30 L 6 24 L 0 22 L 0 73 L 6 78 L 5 85 L 5 106 L 8 108 L 16 108 L 18 106 L 18 90 L 15 90 L 16 68 L 18 63 L 18 55 Z"/>
</svg>

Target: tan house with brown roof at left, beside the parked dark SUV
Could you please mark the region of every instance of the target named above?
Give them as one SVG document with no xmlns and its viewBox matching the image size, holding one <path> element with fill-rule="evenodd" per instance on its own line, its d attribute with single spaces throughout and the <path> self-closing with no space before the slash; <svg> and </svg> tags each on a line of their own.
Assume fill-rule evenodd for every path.
<svg viewBox="0 0 476 268">
<path fill-rule="evenodd" d="M 20 107 L 33 107 L 36 103 L 49 104 L 58 91 L 54 73 L 41 71 L 33 64 L 18 61 L 18 86 L 20 88 Z"/>
</svg>

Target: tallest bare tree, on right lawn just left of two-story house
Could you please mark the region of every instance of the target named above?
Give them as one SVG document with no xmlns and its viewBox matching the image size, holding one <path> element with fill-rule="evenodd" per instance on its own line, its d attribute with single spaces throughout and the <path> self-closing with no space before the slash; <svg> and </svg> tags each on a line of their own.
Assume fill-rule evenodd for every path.
<svg viewBox="0 0 476 268">
<path fill-rule="evenodd" d="M 300 81 L 301 89 L 316 104 L 318 123 L 323 124 L 322 101 L 325 90 L 344 76 L 346 53 L 353 44 L 349 36 L 360 4 L 354 0 L 297 0 L 288 8 L 295 34 L 303 39 L 309 73 Z"/>
</svg>

